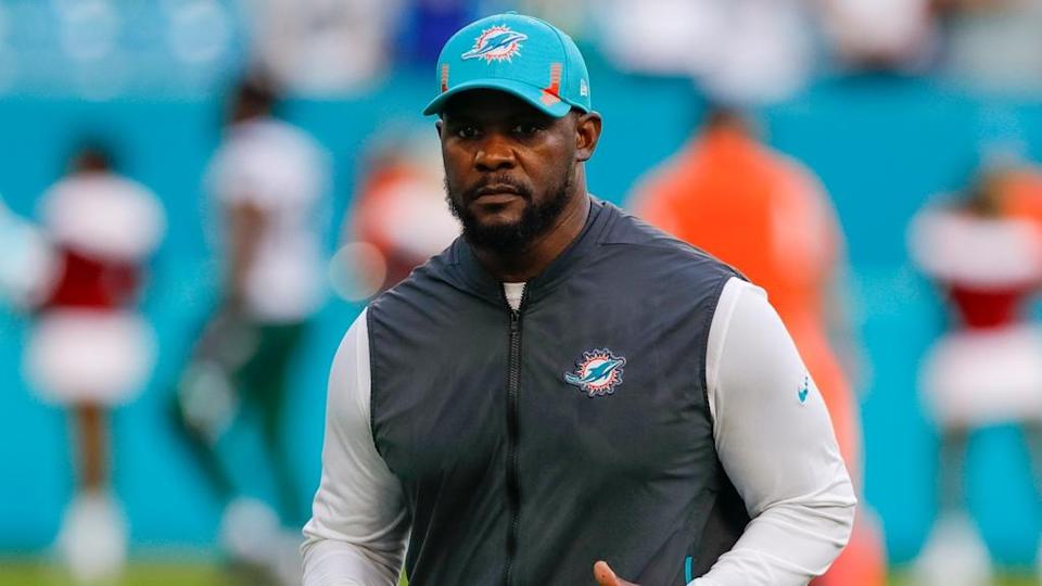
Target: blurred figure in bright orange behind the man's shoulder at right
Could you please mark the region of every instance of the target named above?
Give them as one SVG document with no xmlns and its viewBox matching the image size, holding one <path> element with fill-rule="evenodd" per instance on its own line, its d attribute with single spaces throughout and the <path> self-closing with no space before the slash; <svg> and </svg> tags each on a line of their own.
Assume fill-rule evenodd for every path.
<svg viewBox="0 0 1042 586">
<path fill-rule="evenodd" d="M 637 214 L 742 271 L 763 286 L 822 391 L 847 467 L 860 486 L 861 418 L 829 341 L 829 288 L 842 260 L 842 234 L 817 179 L 761 144 L 750 123 L 716 106 L 703 131 L 652 173 Z M 836 313 L 836 311 L 834 311 Z M 819 584 L 882 584 L 881 538 L 860 506 L 847 549 Z"/>
</svg>

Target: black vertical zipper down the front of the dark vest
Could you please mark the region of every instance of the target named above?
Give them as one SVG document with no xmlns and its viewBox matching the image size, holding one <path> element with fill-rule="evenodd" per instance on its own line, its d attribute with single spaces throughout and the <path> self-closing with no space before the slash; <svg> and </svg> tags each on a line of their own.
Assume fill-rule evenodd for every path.
<svg viewBox="0 0 1042 586">
<path fill-rule="evenodd" d="M 508 304 L 509 306 L 509 304 Z M 524 291 L 521 304 L 524 306 Z M 518 394 L 521 386 L 521 309 L 510 308 L 510 362 L 507 372 L 507 563 L 503 572 L 506 586 L 513 584 L 513 557 L 518 551 L 518 517 L 521 513 L 521 487 L 518 472 Z"/>
</svg>

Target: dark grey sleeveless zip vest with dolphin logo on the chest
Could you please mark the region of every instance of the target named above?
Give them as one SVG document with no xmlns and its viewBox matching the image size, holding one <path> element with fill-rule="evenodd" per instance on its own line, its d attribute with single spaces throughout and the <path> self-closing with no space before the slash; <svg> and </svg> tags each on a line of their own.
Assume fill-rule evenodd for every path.
<svg viewBox="0 0 1042 586">
<path fill-rule="evenodd" d="M 706 393 L 735 276 L 595 200 L 519 311 L 462 240 L 373 301 L 372 436 L 411 515 L 410 584 L 708 571 L 748 522 Z"/>
</svg>

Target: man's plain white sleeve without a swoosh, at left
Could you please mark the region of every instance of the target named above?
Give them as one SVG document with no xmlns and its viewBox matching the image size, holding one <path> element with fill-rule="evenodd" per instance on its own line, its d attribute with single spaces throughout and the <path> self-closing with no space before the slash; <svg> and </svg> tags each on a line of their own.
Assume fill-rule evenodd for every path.
<svg viewBox="0 0 1042 586">
<path fill-rule="evenodd" d="M 402 486 L 369 424 L 366 313 L 347 331 L 329 375 L 322 480 L 304 526 L 304 586 L 395 585 L 409 520 Z"/>
</svg>

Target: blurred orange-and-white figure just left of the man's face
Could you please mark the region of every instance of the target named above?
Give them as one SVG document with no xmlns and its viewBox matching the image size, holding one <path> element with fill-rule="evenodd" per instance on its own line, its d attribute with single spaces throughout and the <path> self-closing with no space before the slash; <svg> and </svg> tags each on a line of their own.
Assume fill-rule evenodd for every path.
<svg viewBox="0 0 1042 586">
<path fill-rule="evenodd" d="M 385 291 L 459 235 L 445 205 L 445 171 L 430 128 L 392 128 L 369 148 L 358 193 L 346 215 L 338 263 L 357 285 L 338 292 L 360 301 Z"/>
</svg>

